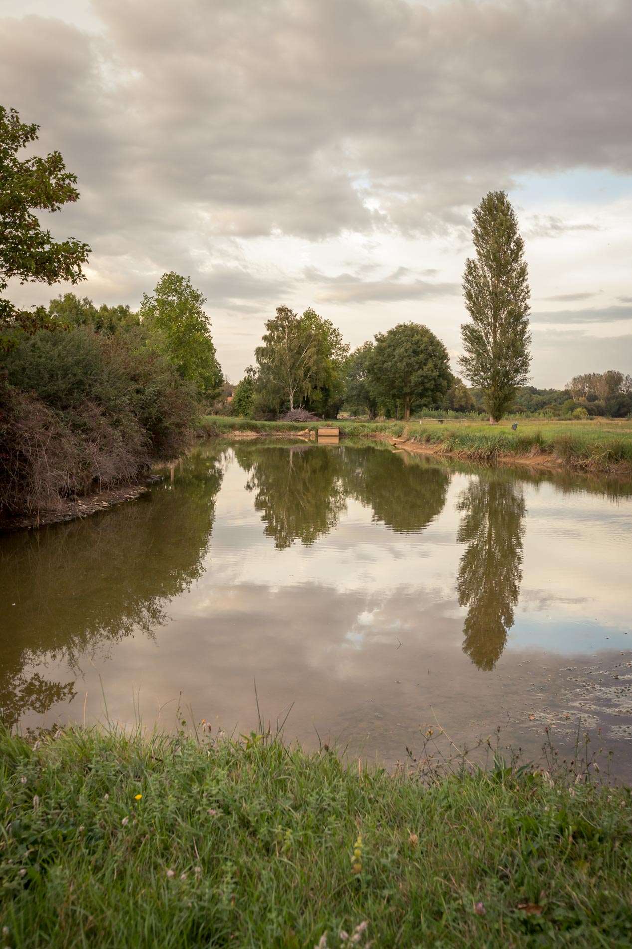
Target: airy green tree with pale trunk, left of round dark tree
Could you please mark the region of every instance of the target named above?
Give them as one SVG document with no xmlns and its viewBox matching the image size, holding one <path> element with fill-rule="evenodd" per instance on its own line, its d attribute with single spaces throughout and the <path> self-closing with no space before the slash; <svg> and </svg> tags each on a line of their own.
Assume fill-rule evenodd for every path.
<svg viewBox="0 0 632 949">
<path fill-rule="evenodd" d="M 255 350 L 259 388 L 276 412 L 293 410 L 303 400 L 321 411 L 335 401 L 342 404 L 342 365 L 348 349 L 330 320 L 321 319 L 311 307 L 302 316 L 290 307 L 277 307 L 265 328 L 263 344 Z"/>
</svg>

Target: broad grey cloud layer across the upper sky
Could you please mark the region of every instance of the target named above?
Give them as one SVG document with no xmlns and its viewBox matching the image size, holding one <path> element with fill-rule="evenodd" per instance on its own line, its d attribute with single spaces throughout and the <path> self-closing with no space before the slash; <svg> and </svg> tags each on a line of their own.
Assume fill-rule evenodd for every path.
<svg viewBox="0 0 632 949">
<path fill-rule="evenodd" d="M 632 173 L 627 0 L 92 9 L 96 35 L 5 20 L 0 80 L 80 174 L 97 246 L 173 208 L 242 237 L 444 233 L 516 176 Z"/>
</svg>

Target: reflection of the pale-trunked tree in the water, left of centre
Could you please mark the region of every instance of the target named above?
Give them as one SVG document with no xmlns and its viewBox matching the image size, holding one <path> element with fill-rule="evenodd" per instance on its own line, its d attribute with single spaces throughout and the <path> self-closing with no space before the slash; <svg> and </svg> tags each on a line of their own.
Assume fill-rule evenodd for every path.
<svg viewBox="0 0 632 949">
<path fill-rule="evenodd" d="M 334 530 L 345 508 L 337 450 L 236 445 L 235 456 L 250 473 L 246 491 L 256 492 L 265 535 L 278 550 L 296 540 L 309 547 Z"/>
</svg>

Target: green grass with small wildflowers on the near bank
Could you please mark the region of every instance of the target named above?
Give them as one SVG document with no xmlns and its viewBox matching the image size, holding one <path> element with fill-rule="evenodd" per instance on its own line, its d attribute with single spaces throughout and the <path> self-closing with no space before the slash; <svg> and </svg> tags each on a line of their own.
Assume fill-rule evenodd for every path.
<svg viewBox="0 0 632 949">
<path fill-rule="evenodd" d="M 632 942 L 627 789 L 424 783 L 257 736 L 5 732 L 0 754 L 13 949 Z"/>
</svg>

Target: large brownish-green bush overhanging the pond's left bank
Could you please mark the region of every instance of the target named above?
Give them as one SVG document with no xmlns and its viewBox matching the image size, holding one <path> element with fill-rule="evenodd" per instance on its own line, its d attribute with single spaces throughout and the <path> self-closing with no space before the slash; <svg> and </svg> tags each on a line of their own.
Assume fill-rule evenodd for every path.
<svg viewBox="0 0 632 949">
<path fill-rule="evenodd" d="M 23 336 L 0 381 L 0 511 L 56 508 L 68 494 L 131 480 L 184 447 L 197 414 L 141 329 Z"/>
</svg>

